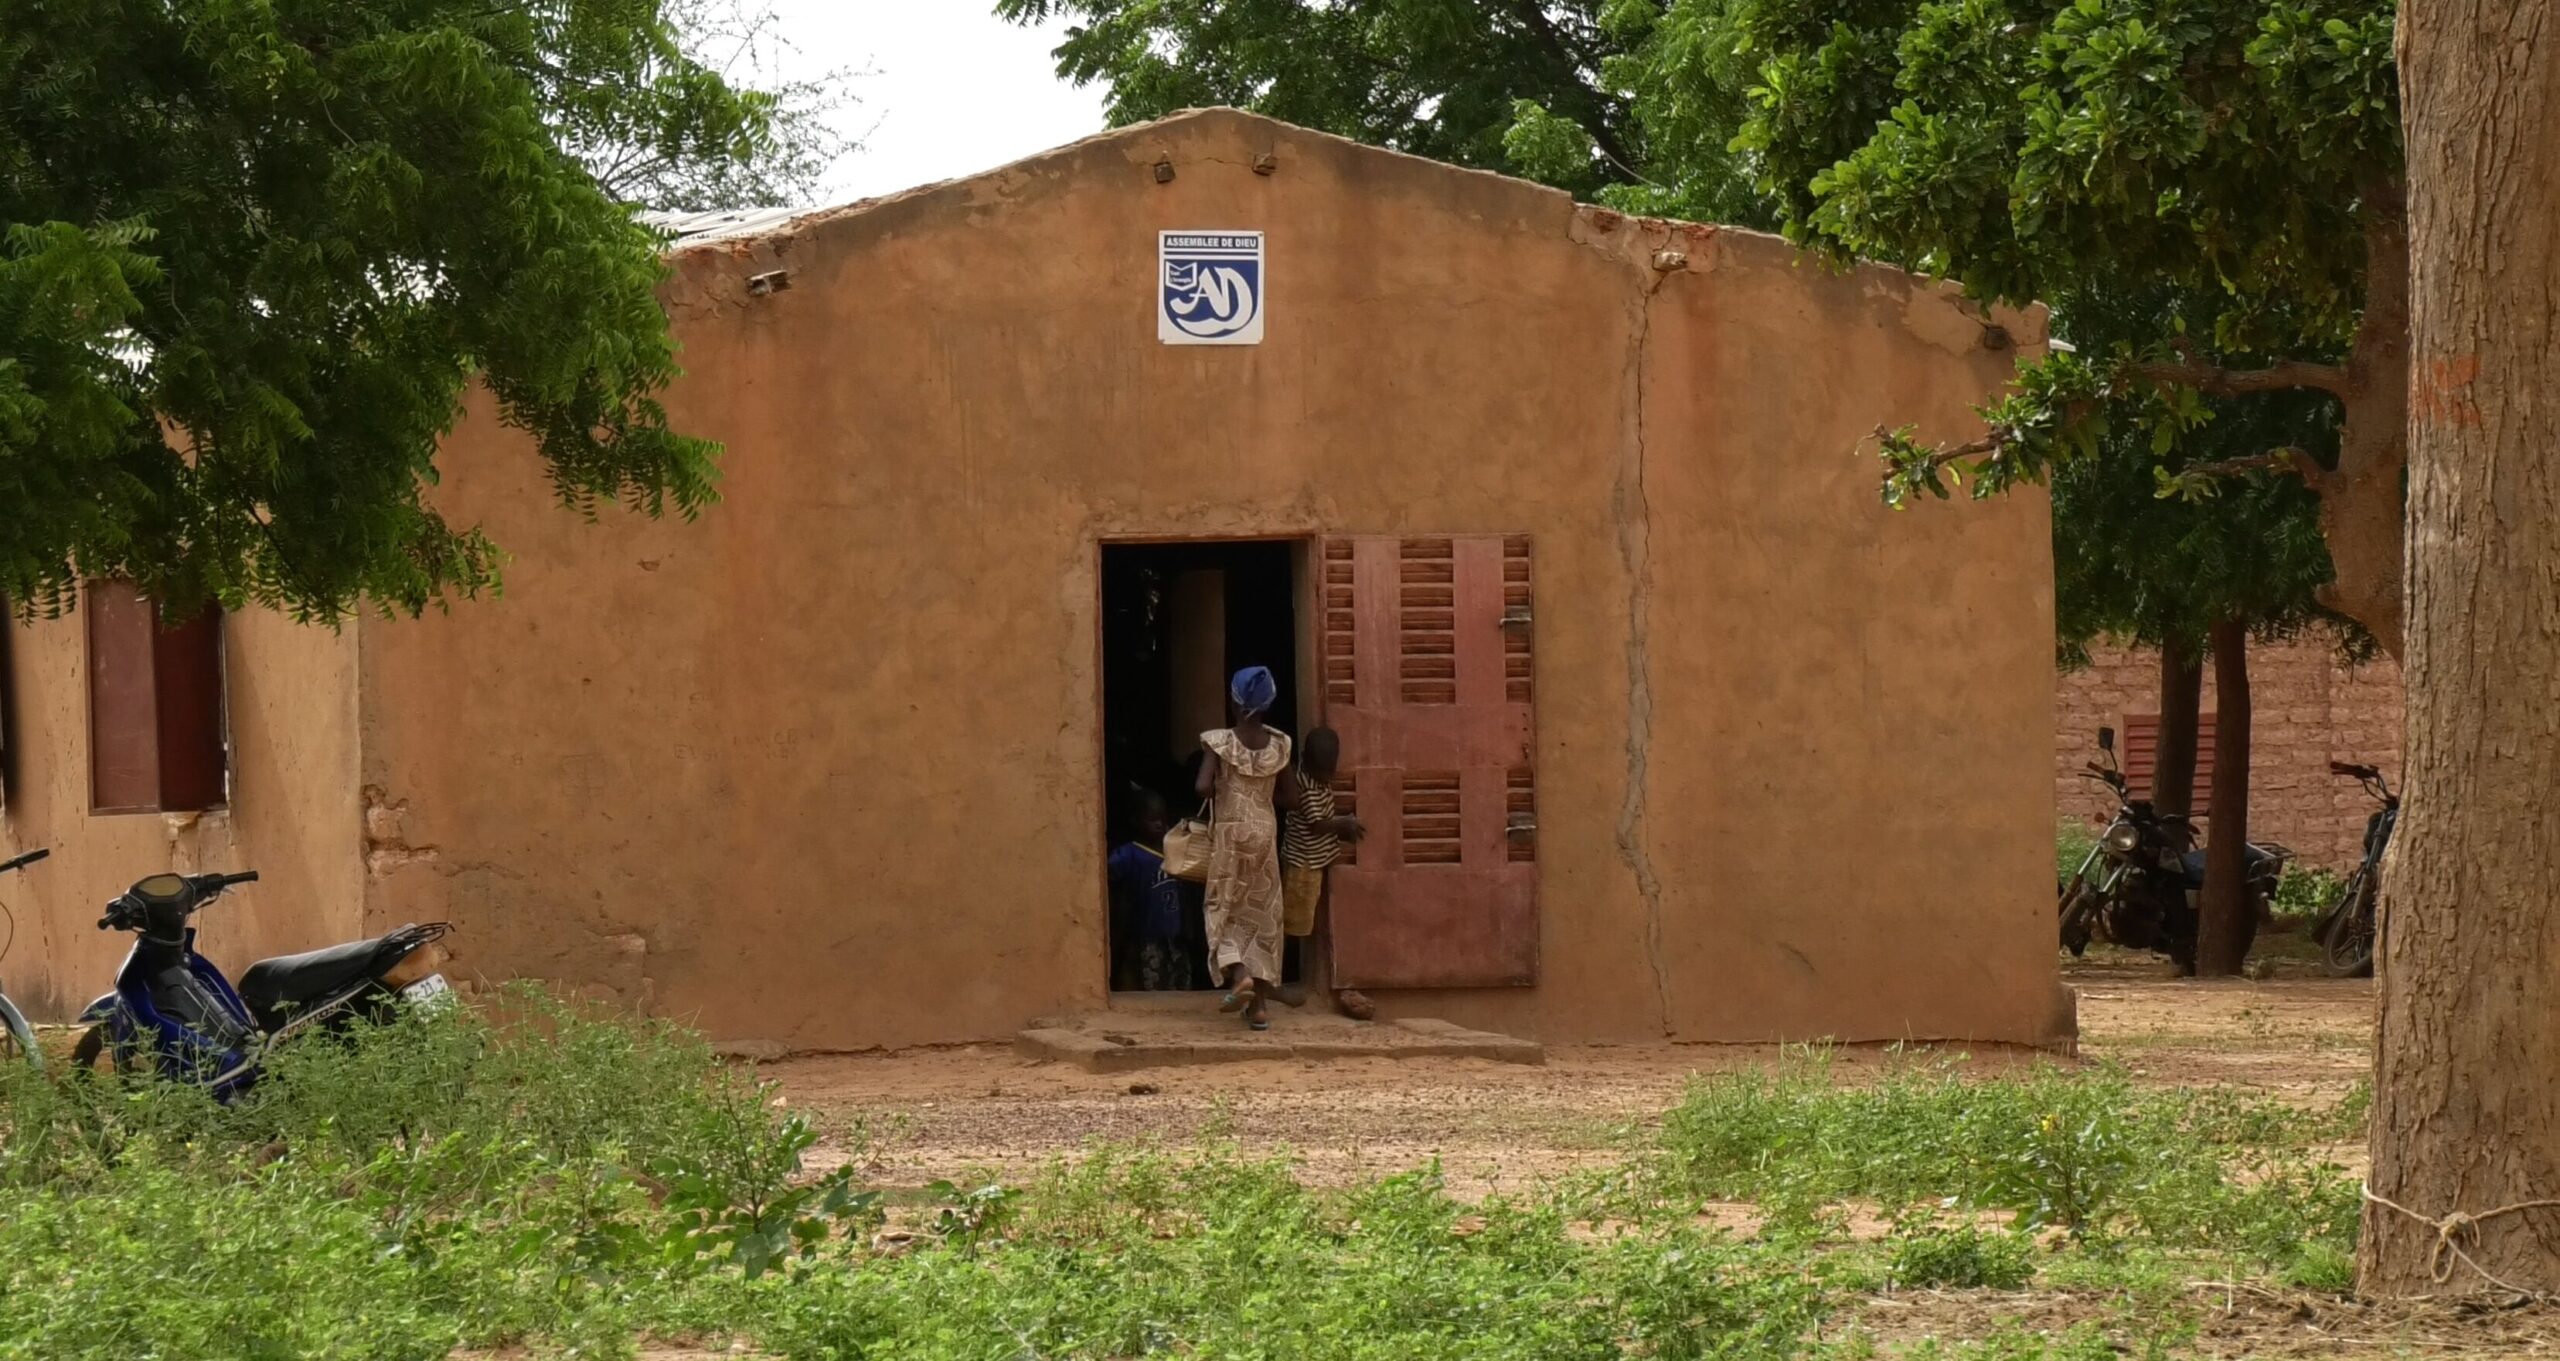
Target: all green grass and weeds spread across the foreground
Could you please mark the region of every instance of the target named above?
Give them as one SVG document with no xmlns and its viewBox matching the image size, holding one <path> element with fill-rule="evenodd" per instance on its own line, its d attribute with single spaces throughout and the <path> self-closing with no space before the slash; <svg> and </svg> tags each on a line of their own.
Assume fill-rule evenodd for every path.
<svg viewBox="0 0 2560 1361">
<path fill-rule="evenodd" d="M 2181 1282 L 2342 1282 L 2355 1192 L 2314 1149 L 2363 1103 L 2107 1069 L 1843 1077 L 1810 1054 L 1700 1080 L 1615 1172 L 1516 1197 L 1101 1146 L 1019 1187 L 901 1192 L 878 1233 L 888 1200 L 806 1174 L 817 1131 L 696 1036 L 538 993 L 294 1046 L 236 1108 L 8 1069 L 0 1358 L 737 1338 L 788 1361 L 1774 1361 L 1859 1356 L 1841 1323 L 1871 1292 L 2020 1287 L 2120 1300 L 2099 1343 L 2158 1351 L 2191 1325 Z M 858 1154 L 865 1131 L 837 1136 Z M 1764 1223 L 1715 1228 L 1710 1200 Z M 1889 1233 L 1851 1233 L 1853 1208 Z"/>
</svg>

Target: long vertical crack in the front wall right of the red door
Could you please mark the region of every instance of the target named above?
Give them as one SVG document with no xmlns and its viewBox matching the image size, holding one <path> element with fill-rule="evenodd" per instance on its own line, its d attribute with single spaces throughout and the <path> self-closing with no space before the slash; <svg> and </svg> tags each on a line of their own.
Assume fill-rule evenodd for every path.
<svg viewBox="0 0 2560 1361">
<path fill-rule="evenodd" d="M 1638 266 L 1641 269 L 1641 266 Z M 1654 292 L 1669 274 L 1646 269 L 1633 307 L 1628 343 L 1628 440 L 1618 458 L 1618 489 L 1610 509 L 1618 519 L 1618 558 L 1626 563 L 1626 803 L 1618 806 L 1618 860 L 1636 875 L 1644 898 L 1644 954 L 1654 970 L 1654 1000 L 1661 1008 L 1661 1034 L 1672 1034 L 1672 967 L 1661 949 L 1661 875 L 1644 839 L 1646 775 L 1654 744 L 1654 655 L 1651 655 L 1651 501 L 1644 491 L 1644 356 L 1654 335 Z"/>
</svg>

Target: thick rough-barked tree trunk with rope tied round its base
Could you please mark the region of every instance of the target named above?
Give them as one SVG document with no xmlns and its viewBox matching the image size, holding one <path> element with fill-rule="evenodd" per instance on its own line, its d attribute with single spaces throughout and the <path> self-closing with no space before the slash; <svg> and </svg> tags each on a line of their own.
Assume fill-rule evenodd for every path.
<svg viewBox="0 0 2560 1361">
<path fill-rule="evenodd" d="M 2409 724 L 2368 1294 L 2560 1292 L 2560 23 L 2409 0 Z M 2455 1231 L 2440 1248 L 2437 1223 Z M 2458 1251 L 2455 1251 L 2458 1248 Z"/>
</svg>

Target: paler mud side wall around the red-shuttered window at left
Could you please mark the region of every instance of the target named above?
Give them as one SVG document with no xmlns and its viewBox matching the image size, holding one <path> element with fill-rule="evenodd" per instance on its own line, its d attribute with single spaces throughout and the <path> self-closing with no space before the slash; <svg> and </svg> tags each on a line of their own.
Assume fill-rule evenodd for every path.
<svg viewBox="0 0 2560 1361">
<path fill-rule="evenodd" d="M 38 1021 L 67 1021 L 115 985 L 128 934 L 97 929 L 108 898 L 166 870 L 259 870 L 197 918 L 225 972 L 356 936 L 364 906 L 356 803 L 356 634 L 282 614 L 223 619 L 230 806 L 90 814 L 87 627 L 72 614 L 5 624 L 18 783 L 0 854 L 54 857 L 0 877 L 18 939 L 0 985 Z"/>
</svg>

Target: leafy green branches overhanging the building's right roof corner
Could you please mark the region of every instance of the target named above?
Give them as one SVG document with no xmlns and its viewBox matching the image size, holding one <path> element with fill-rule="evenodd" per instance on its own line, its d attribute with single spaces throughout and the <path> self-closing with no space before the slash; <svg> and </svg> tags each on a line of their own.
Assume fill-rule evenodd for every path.
<svg viewBox="0 0 2560 1361">
<path fill-rule="evenodd" d="M 1892 501 L 1999 494 L 2132 427 L 2179 496 L 2260 468 L 2312 484 L 2337 555 L 2332 604 L 2396 645 L 2406 228 L 2391 20 L 2391 0 L 1672 0 L 1641 69 L 1656 102 L 1751 82 L 1733 146 L 1802 243 L 2002 302 L 2184 299 L 2181 325 L 2022 368 L 1981 440 L 1882 432 Z M 2345 404 L 2327 460 L 2237 432 L 2220 440 L 2230 458 L 2171 460 L 2230 412 L 2304 391 Z"/>
</svg>

